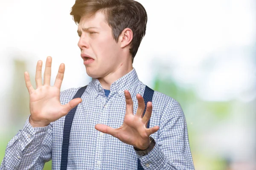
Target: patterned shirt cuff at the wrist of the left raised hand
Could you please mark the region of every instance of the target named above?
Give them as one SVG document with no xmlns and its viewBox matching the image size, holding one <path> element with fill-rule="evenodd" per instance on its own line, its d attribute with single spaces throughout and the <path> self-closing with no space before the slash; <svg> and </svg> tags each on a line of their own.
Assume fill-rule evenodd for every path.
<svg viewBox="0 0 256 170">
<path fill-rule="evenodd" d="M 49 128 L 49 125 L 45 127 L 32 127 L 29 123 L 29 117 L 28 117 L 26 119 L 25 125 L 21 130 L 20 137 L 18 139 L 20 143 L 20 151 L 22 152 L 25 149 L 25 147 L 29 143 L 31 143 L 32 140 L 35 138 L 36 140 L 33 141 L 33 144 L 41 144 L 48 128 Z"/>
</svg>

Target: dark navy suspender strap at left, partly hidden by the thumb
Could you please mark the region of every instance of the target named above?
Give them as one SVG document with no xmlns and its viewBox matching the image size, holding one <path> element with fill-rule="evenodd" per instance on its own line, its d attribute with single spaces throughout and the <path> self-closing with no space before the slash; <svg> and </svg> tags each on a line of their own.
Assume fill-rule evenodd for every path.
<svg viewBox="0 0 256 170">
<path fill-rule="evenodd" d="M 82 94 L 84 94 L 87 85 L 79 88 L 76 92 L 73 99 L 81 98 Z M 62 140 L 62 150 L 61 150 L 61 170 L 67 170 L 67 156 L 68 156 L 68 147 L 69 147 L 69 139 L 70 139 L 70 130 L 72 126 L 72 122 L 76 113 L 76 108 L 70 110 L 65 117 L 64 129 L 63 129 L 63 140 Z"/>
</svg>

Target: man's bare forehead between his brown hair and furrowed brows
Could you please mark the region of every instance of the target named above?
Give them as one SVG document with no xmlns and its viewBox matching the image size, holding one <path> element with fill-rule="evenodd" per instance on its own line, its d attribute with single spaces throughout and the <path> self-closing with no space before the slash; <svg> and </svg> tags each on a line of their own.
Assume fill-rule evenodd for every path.
<svg viewBox="0 0 256 170">
<path fill-rule="evenodd" d="M 105 20 L 105 15 L 102 12 L 96 12 L 93 16 L 82 16 L 78 25 L 78 30 L 82 30 L 82 28 L 106 28 L 109 27 L 108 23 Z"/>
</svg>

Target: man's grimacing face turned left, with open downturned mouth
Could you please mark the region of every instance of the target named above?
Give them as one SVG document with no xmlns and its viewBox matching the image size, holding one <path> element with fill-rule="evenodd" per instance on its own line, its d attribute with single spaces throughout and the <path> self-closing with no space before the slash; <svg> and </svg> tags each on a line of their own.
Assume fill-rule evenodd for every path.
<svg viewBox="0 0 256 170">
<path fill-rule="evenodd" d="M 78 34 L 81 57 L 90 77 L 105 77 L 119 67 L 120 43 L 113 39 L 111 27 L 106 23 L 104 14 L 97 12 L 92 17 L 81 17 Z M 93 59 L 88 59 L 87 56 Z"/>
</svg>

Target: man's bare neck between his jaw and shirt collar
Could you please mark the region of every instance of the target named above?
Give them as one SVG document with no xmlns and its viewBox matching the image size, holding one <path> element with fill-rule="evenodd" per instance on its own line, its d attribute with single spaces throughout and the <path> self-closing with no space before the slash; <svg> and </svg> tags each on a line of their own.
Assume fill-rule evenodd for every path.
<svg viewBox="0 0 256 170">
<path fill-rule="evenodd" d="M 110 86 L 113 82 L 123 77 L 125 74 L 128 74 L 132 71 L 132 64 L 124 65 L 123 63 L 116 68 L 114 71 L 111 71 L 107 76 L 98 78 L 100 84 L 104 89 L 110 90 Z"/>
</svg>

